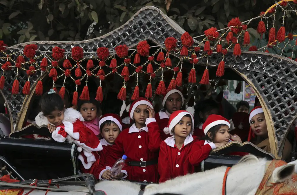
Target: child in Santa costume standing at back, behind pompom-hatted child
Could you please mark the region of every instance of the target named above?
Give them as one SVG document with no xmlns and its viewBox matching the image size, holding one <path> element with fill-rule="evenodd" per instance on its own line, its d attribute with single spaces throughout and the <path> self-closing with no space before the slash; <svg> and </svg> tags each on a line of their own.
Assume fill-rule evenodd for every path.
<svg viewBox="0 0 297 195">
<path fill-rule="evenodd" d="M 181 109 L 184 105 L 184 96 L 177 89 L 172 89 L 164 96 L 162 105 L 163 109 L 156 114 L 156 121 L 160 127 L 160 134 L 162 140 L 170 137 L 170 135 L 166 135 L 163 131 L 164 128 L 167 127 L 169 116 L 174 112 Z"/>
</svg>

